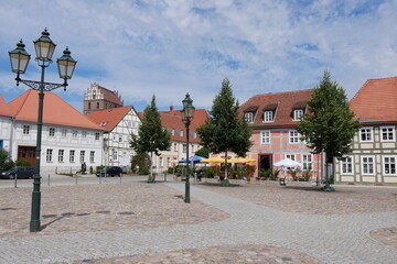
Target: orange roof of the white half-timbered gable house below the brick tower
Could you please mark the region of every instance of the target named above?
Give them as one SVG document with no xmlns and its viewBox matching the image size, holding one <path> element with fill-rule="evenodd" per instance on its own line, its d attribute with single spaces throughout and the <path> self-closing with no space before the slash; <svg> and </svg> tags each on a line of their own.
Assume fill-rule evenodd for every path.
<svg viewBox="0 0 397 264">
<path fill-rule="evenodd" d="M 88 113 L 87 117 L 93 122 L 104 128 L 106 131 L 111 131 L 131 109 L 135 111 L 133 107 L 105 109 L 99 111 L 93 111 Z"/>
</svg>

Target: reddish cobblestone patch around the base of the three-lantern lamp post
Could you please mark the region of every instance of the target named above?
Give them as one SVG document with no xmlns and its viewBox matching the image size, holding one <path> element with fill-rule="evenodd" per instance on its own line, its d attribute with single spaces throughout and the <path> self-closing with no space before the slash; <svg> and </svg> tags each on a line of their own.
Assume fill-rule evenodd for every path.
<svg viewBox="0 0 397 264">
<path fill-rule="evenodd" d="M 161 184 L 108 184 L 42 187 L 44 229 L 34 235 L 140 229 L 221 221 L 229 216 Z M 29 232 L 32 188 L 1 189 L 0 235 Z"/>
</svg>

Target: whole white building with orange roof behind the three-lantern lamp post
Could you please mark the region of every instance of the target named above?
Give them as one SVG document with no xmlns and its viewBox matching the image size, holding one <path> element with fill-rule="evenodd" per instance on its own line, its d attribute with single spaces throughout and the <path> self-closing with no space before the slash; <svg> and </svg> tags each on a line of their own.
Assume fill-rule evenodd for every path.
<svg viewBox="0 0 397 264">
<path fill-rule="evenodd" d="M 35 165 L 39 92 L 28 90 L 7 105 L 11 121 L 1 118 L 1 133 L 8 134 L 8 151 L 13 161 L 24 158 Z M 43 109 L 41 172 L 69 173 L 100 165 L 104 130 L 57 95 L 45 92 Z M 7 138 L 7 136 L 6 136 Z M 6 143 L 4 143 L 6 142 Z M 6 148 L 6 147 L 4 147 Z"/>
</svg>

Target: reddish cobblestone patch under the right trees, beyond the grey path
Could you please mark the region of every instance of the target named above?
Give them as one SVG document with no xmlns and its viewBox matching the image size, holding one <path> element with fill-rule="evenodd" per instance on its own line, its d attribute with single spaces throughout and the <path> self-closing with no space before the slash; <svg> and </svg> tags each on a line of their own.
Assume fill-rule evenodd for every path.
<svg viewBox="0 0 397 264">
<path fill-rule="evenodd" d="M 201 184 L 201 188 L 232 196 L 256 205 L 288 212 L 309 215 L 345 215 L 397 211 L 397 187 L 334 186 L 336 191 L 324 193 L 313 186 Z"/>
</svg>

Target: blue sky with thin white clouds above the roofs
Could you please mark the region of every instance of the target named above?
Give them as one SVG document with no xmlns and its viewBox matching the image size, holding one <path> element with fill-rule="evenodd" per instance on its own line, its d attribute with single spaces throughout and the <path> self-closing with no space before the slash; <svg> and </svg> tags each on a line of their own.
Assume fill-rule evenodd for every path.
<svg viewBox="0 0 397 264">
<path fill-rule="evenodd" d="M 258 94 L 313 88 L 323 72 L 348 98 L 371 78 L 397 76 L 397 0 L 0 0 L 0 94 L 15 86 L 8 52 L 47 28 L 78 62 L 62 98 L 83 109 L 92 82 L 118 90 L 141 111 L 154 94 L 159 109 L 181 108 L 190 92 L 211 109 L 227 77 L 240 103 Z M 46 81 L 62 81 L 56 65 Z M 25 79 L 40 79 L 31 59 Z"/>
</svg>

